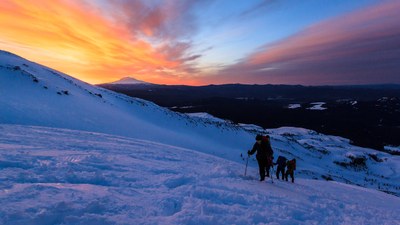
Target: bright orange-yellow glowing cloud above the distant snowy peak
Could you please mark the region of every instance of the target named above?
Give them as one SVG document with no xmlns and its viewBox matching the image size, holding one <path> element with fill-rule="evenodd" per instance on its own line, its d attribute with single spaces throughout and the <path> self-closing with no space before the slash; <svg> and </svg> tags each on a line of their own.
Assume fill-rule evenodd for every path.
<svg viewBox="0 0 400 225">
<path fill-rule="evenodd" d="M 173 83 L 187 73 L 182 60 L 82 2 L 3 0 L 0 26 L 0 49 L 89 83 L 130 75 Z M 152 34 L 150 27 L 145 31 Z"/>
</svg>

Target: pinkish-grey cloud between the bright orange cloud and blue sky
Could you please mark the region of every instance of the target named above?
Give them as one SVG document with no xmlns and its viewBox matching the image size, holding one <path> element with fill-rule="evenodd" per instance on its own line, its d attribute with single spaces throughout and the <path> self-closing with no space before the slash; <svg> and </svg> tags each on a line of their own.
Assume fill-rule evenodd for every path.
<svg viewBox="0 0 400 225">
<path fill-rule="evenodd" d="M 170 77 L 168 73 L 175 73 L 174 82 L 187 83 L 192 77 L 191 73 L 199 72 L 195 68 L 195 61 L 202 57 L 202 54 L 192 51 L 191 37 L 198 30 L 195 13 L 209 2 L 188 0 L 155 4 L 146 0 L 113 0 L 107 13 L 117 23 L 124 24 L 132 36 L 148 40 L 156 46 L 156 52 L 179 62 L 174 72 L 160 70 L 163 71 L 158 73 L 160 76 Z"/>
</svg>

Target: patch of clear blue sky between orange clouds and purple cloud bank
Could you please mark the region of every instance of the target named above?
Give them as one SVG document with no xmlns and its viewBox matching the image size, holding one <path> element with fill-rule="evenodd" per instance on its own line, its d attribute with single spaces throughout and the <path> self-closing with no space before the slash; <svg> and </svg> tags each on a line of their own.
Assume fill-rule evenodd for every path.
<svg viewBox="0 0 400 225">
<path fill-rule="evenodd" d="M 216 1 L 197 11 L 200 31 L 195 51 L 212 47 L 200 65 L 231 64 L 257 48 L 293 35 L 305 27 L 377 1 Z M 258 6 L 258 7 L 257 7 Z M 245 14 L 244 14 L 245 13 Z"/>
</svg>

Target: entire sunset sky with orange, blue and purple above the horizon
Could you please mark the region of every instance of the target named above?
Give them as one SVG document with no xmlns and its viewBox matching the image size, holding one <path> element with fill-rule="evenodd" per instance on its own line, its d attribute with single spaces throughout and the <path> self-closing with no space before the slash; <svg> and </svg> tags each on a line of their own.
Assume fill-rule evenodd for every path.
<svg viewBox="0 0 400 225">
<path fill-rule="evenodd" d="M 92 84 L 400 83 L 398 11 L 373 0 L 5 0 L 0 49 Z"/>
</svg>

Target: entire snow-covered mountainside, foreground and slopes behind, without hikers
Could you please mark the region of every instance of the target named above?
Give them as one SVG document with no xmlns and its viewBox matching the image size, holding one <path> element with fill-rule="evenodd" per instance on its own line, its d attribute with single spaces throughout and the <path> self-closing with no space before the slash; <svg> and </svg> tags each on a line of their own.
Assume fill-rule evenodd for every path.
<svg viewBox="0 0 400 225">
<path fill-rule="evenodd" d="M 189 117 L 7 52 L 0 52 L 0 124 L 3 224 L 400 219 L 398 156 L 301 128 Z M 243 177 L 240 156 L 256 133 L 271 135 L 275 158 L 297 159 L 295 184 L 259 183 L 254 158 Z"/>
</svg>

